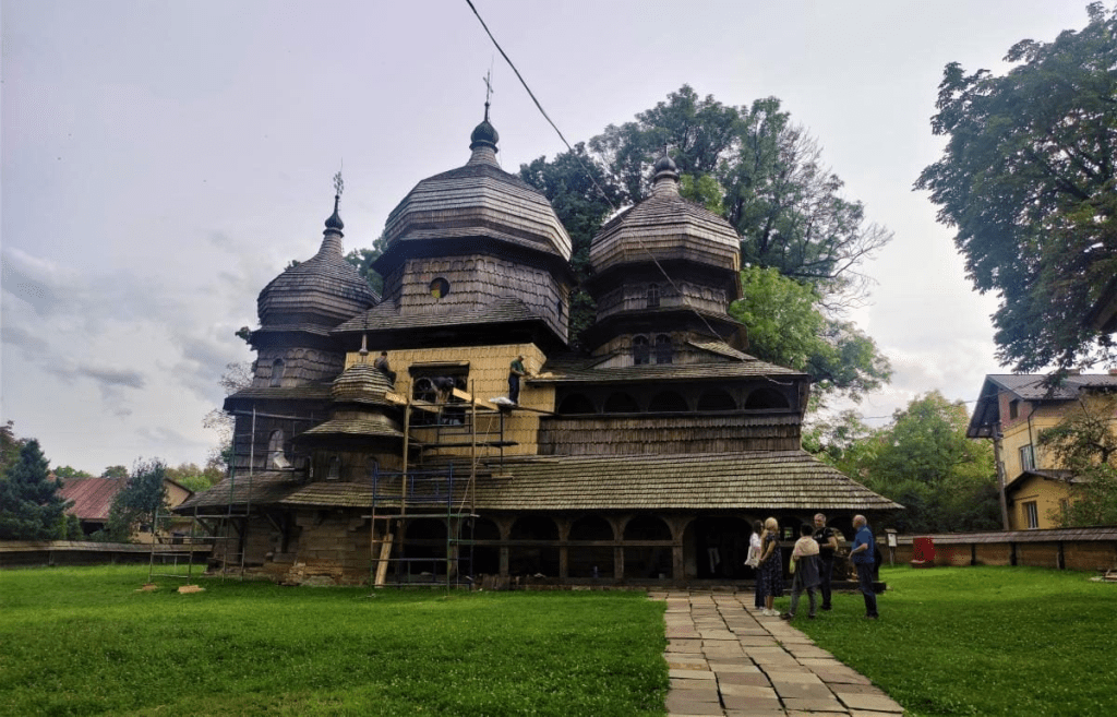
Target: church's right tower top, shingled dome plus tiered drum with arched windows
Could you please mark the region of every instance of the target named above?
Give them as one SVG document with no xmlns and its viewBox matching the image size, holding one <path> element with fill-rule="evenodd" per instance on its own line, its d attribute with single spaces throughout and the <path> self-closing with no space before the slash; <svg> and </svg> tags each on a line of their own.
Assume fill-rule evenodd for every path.
<svg viewBox="0 0 1117 717">
<path fill-rule="evenodd" d="M 651 194 L 602 227 L 590 245 L 589 285 L 598 316 L 589 333 L 599 352 L 624 336 L 688 333 L 739 341 L 727 313 L 741 297 L 741 238 L 725 219 L 679 194 L 679 172 L 665 154 Z"/>
</svg>

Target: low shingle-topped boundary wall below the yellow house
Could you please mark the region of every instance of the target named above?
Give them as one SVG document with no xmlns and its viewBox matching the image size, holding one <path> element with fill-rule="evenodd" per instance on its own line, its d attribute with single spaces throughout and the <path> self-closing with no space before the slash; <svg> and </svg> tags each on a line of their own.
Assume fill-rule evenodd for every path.
<svg viewBox="0 0 1117 717">
<path fill-rule="evenodd" d="M 908 563 L 916 537 L 935 543 L 935 565 L 1022 565 L 1057 570 L 1108 571 L 1117 568 L 1117 526 L 899 535 L 892 560 Z M 886 539 L 878 539 L 888 564 Z"/>
</svg>

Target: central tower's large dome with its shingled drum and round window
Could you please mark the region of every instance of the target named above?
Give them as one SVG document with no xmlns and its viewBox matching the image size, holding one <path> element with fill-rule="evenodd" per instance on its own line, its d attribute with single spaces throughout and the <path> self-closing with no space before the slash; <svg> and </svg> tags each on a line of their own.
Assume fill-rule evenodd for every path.
<svg viewBox="0 0 1117 717">
<path fill-rule="evenodd" d="M 385 250 L 373 264 L 384 277 L 383 305 L 335 335 L 355 342 L 423 316 L 431 332 L 452 328 L 466 341 L 469 327 L 490 334 L 485 326 L 515 319 L 518 341 L 565 344 L 571 239 L 547 199 L 500 169 L 498 140 L 486 103 L 469 161 L 420 181 L 389 214 Z"/>
</svg>

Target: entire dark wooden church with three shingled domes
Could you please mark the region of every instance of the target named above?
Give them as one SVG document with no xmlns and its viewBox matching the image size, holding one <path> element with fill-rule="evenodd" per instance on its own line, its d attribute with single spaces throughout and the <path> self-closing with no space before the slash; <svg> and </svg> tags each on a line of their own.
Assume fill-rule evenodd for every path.
<svg viewBox="0 0 1117 717">
<path fill-rule="evenodd" d="M 739 237 L 679 195 L 593 239 L 588 353 L 569 348 L 571 240 L 497 163 L 464 166 L 384 228 L 383 296 L 318 252 L 260 291 L 254 380 L 230 395 L 230 475 L 179 507 L 217 567 L 288 583 L 641 584 L 752 577 L 750 526 L 900 506 L 801 448 L 809 377 L 746 353 Z M 509 374 L 518 374 L 512 389 Z"/>
</svg>

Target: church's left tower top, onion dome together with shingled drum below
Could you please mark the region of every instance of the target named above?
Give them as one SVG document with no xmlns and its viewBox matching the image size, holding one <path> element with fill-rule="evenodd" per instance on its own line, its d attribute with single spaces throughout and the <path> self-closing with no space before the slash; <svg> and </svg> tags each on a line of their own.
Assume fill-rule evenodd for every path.
<svg viewBox="0 0 1117 717">
<path fill-rule="evenodd" d="M 338 193 L 318 252 L 288 267 L 256 300 L 260 327 L 249 341 L 258 352 L 257 385 L 295 385 L 336 375 L 344 365 L 344 352 L 330 329 L 379 300 L 356 267 L 345 260 L 340 200 Z"/>
</svg>

